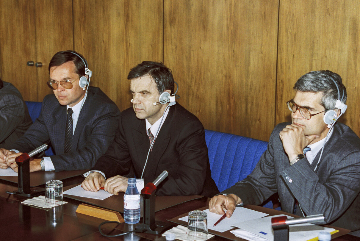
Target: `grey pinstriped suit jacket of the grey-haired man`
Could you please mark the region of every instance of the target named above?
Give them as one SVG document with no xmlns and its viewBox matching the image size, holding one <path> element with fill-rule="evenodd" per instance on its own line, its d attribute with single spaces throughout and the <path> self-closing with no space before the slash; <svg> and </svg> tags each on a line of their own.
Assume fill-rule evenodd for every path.
<svg viewBox="0 0 360 241">
<path fill-rule="evenodd" d="M 306 158 L 290 166 L 275 127 L 267 150 L 253 172 L 223 193 L 238 195 L 244 204 L 259 205 L 278 192 L 282 210 L 293 213 L 294 198 L 306 215 L 324 214 L 325 223 L 356 230 L 360 228 L 360 139 L 346 125 L 337 123 L 312 165 Z M 297 212 L 298 214 L 298 212 Z"/>
</svg>

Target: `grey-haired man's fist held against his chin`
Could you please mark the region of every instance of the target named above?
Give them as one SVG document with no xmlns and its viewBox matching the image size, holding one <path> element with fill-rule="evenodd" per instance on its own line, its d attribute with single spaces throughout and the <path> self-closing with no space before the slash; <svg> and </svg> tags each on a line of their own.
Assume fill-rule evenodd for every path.
<svg viewBox="0 0 360 241">
<path fill-rule="evenodd" d="M 304 129 L 297 124 L 285 126 L 279 135 L 283 142 L 284 150 L 289 157 L 289 161 L 303 154 L 303 149 L 315 138 L 319 138 L 318 135 L 305 136 Z"/>
</svg>

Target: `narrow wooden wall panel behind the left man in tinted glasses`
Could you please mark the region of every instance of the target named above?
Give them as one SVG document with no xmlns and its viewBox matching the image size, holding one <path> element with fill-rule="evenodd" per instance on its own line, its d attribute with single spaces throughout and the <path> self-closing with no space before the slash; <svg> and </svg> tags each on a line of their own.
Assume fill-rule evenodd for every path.
<svg viewBox="0 0 360 241">
<path fill-rule="evenodd" d="M 53 91 L 46 85 L 49 80 L 49 62 L 62 50 L 72 50 L 72 0 L 35 0 L 36 62 L 38 101 Z"/>
</svg>

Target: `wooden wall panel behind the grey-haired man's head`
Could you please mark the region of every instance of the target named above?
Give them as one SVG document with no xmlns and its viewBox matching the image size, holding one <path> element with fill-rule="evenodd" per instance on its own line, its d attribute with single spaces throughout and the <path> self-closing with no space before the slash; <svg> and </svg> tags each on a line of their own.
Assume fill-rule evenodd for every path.
<svg viewBox="0 0 360 241">
<path fill-rule="evenodd" d="M 348 108 L 339 121 L 360 136 L 360 2 L 280 0 L 276 120 L 290 120 L 286 101 L 293 85 L 313 70 L 338 73 L 347 88 Z"/>
</svg>

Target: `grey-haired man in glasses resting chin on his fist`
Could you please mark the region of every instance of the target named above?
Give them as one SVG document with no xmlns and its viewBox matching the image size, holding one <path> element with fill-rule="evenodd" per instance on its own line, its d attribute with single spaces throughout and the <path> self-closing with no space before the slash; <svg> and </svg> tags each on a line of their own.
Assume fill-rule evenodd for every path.
<svg viewBox="0 0 360 241">
<path fill-rule="evenodd" d="M 224 208 L 230 217 L 235 205 L 259 205 L 278 192 L 285 212 L 323 214 L 325 223 L 359 229 L 360 139 L 348 126 L 334 125 L 346 110 L 341 77 L 312 71 L 294 89 L 287 103 L 292 123 L 275 127 L 253 172 L 222 192 L 227 196 L 213 197 L 209 209 L 224 214 Z"/>
</svg>

